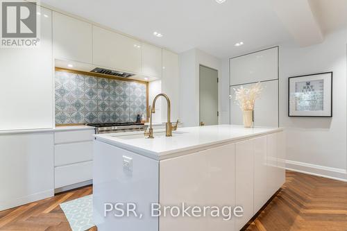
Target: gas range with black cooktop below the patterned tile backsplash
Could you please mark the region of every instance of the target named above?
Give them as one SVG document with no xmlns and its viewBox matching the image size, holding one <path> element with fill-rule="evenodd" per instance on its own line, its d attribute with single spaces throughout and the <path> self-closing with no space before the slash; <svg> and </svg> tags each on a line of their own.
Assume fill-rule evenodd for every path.
<svg viewBox="0 0 347 231">
<path fill-rule="evenodd" d="M 125 122 L 125 123 L 87 123 L 87 126 L 95 127 L 96 134 L 113 132 L 131 132 L 146 130 L 148 125 L 144 123 Z"/>
</svg>

